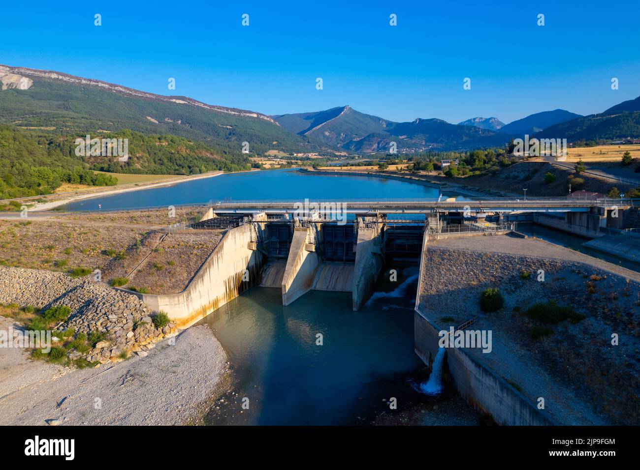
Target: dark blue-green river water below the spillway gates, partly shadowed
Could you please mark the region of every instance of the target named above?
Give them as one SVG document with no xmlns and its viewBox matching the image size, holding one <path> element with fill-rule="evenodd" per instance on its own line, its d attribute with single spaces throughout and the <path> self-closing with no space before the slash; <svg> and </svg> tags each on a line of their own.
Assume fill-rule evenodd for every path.
<svg viewBox="0 0 640 470">
<path fill-rule="evenodd" d="M 454 389 L 420 391 L 429 373 L 413 351 L 416 274 L 406 268 L 393 283 L 383 274 L 360 311 L 350 293 L 312 291 L 282 306 L 279 289 L 254 287 L 204 318 L 233 375 L 205 423 L 476 425 Z"/>
</svg>

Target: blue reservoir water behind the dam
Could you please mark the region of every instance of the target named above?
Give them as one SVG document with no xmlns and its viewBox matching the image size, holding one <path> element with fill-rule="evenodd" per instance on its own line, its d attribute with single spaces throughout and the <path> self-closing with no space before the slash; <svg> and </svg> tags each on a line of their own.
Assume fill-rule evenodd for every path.
<svg viewBox="0 0 640 470">
<path fill-rule="evenodd" d="M 296 169 L 230 173 L 168 187 L 124 192 L 70 203 L 63 210 L 132 209 L 231 200 L 428 198 L 438 189 L 373 176 L 305 175 Z"/>
</svg>

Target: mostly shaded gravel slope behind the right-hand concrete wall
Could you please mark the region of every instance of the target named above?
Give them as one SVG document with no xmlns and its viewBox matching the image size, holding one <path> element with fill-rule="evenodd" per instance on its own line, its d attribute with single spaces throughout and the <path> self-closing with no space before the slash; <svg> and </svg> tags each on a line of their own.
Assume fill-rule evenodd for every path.
<svg viewBox="0 0 640 470">
<path fill-rule="evenodd" d="M 492 331 L 493 349 L 467 352 L 532 402 L 545 398 L 558 423 L 640 423 L 639 273 L 542 240 L 500 235 L 429 242 L 422 274 L 422 312 L 443 329 L 476 317 L 468 329 Z M 504 296 L 494 313 L 479 309 L 488 287 Z M 548 301 L 586 318 L 545 325 L 552 333 L 533 339 L 538 322 L 525 311 Z"/>
</svg>

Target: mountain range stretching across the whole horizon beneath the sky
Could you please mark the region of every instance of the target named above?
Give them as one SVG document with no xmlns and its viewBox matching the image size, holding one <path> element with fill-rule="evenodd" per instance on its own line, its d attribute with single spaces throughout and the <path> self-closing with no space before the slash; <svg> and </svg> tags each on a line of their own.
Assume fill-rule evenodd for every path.
<svg viewBox="0 0 640 470">
<path fill-rule="evenodd" d="M 60 72 L 3 65 L 0 82 L 0 123 L 31 134 L 73 137 L 128 129 L 200 141 L 229 155 L 241 155 L 243 142 L 257 154 L 268 150 L 388 152 L 394 143 L 401 153 L 504 146 L 524 134 L 569 141 L 640 136 L 640 98 L 590 116 L 556 109 L 506 125 L 495 117 L 471 118 L 456 125 L 437 118 L 390 121 L 350 106 L 269 116 Z"/>
</svg>

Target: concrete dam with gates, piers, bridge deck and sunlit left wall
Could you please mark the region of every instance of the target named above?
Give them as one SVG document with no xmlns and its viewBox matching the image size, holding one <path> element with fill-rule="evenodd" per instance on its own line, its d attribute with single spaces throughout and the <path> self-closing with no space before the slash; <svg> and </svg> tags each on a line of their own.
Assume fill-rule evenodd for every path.
<svg viewBox="0 0 640 470">
<path fill-rule="evenodd" d="M 310 290 L 351 292 L 354 310 L 383 267 L 418 265 L 424 235 L 490 235 L 535 221 L 595 238 L 623 226 L 638 201 L 573 198 L 483 200 L 220 201 L 198 229 L 223 239 L 178 294 L 136 294 L 180 327 L 205 317 L 251 286 L 279 288 L 289 305 Z M 448 234 L 448 235 L 447 235 Z"/>
</svg>

